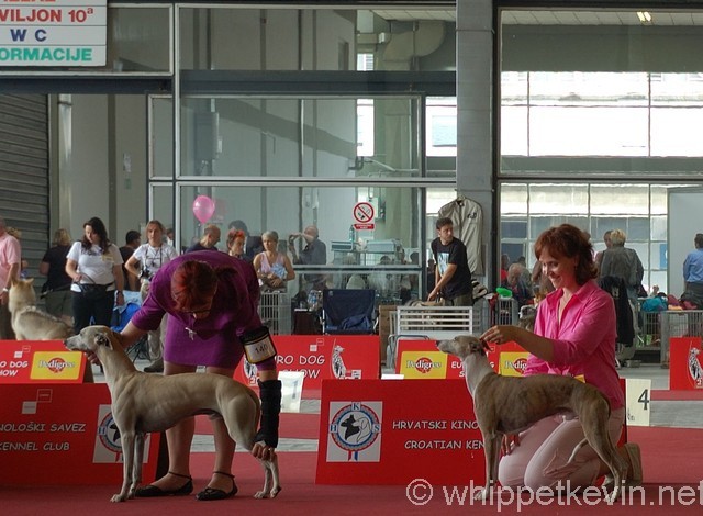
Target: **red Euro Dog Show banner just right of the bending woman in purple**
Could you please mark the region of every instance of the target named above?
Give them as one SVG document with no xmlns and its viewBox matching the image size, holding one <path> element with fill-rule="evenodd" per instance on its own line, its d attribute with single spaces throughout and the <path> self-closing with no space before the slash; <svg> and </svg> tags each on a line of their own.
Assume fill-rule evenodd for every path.
<svg viewBox="0 0 703 516">
<path fill-rule="evenodd" d="M 303 395 L 319 395 L 323 380 L 378 379 L 378 335 L 274 335 L 279 371 L 302 371 Z M 246 359 L 234 379 L 256 386 L 256 367 Z"/>
</svg>

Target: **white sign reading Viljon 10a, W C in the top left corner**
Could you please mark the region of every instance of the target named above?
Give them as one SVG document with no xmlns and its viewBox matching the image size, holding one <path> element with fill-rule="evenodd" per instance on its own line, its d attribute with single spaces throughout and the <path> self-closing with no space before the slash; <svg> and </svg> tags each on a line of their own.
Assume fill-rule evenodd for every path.
<svg viewBox="0 0 703 516">
<path fill-rule="evenodd" d="M 0 67 L 104 66 L 107 0 L 0 0 Z"/>
</svg>

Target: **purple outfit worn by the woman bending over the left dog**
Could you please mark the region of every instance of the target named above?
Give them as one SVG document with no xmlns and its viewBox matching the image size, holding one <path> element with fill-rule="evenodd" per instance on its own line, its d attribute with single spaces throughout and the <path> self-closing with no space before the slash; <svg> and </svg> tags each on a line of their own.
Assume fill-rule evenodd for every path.
<svg viewBox="0 0 703 516">
<path fill-rule="evenodd" d="M 213 268 L 232 269 L 220 273 L 217 291 L 208 317 L 196 321 L 192 314 L 176 310 L 171 298 L 171 277 L 190 260 Z M 164 265 L 154 276 L 149 294 L 131 322 L 142 330 L 157 329 L 168 314 L 164 358 L 189 366 L 235 367 L 242 359 L 238 337 L 261 326 L 258 315 L 259 285 L 252 263 L 212 250 L 181 255 Z"/>
</svg>

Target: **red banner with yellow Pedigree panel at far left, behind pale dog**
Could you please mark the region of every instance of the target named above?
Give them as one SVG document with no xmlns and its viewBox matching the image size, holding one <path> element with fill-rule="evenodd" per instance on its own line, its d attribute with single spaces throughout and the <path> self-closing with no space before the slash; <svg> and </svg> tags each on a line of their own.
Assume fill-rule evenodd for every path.
<svg viewBox="0 0 703 516">
<path fill-rule="evenodd" d="M 60 340 L 0 340 L 0 384 L 81 383 L 86 355 Z"/>
</svg>

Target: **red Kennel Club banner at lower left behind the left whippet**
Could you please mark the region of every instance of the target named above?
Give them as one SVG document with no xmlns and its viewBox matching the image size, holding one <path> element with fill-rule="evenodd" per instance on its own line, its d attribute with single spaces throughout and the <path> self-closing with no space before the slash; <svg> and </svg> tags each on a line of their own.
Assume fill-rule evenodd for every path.
<svg viewBox="0 0 703 516">
<path fill-rule="evenodd" d="M 122 447 L 105 383 L 0 385 L 0 485 L 122 483 Z M 156 475 L 147 437 L 143 482 Z"/>
</svg>

